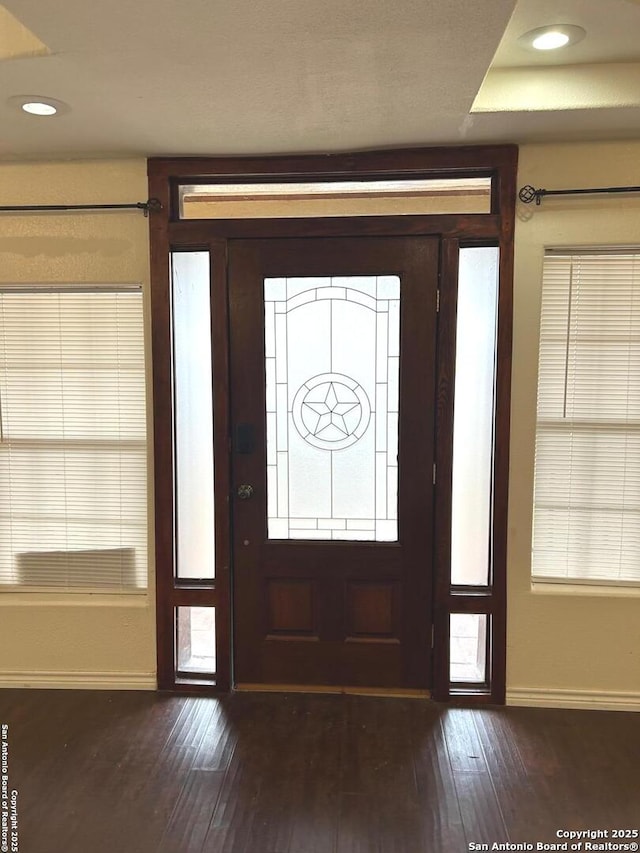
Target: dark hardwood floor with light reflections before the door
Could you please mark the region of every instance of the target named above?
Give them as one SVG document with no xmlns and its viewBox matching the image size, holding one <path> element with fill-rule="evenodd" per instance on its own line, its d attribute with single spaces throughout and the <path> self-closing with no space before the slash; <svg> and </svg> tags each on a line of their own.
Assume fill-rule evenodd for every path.
<svg viewBox="0 0 640 853">
<path fill-rule="evenodd" d="M 20 853 L 462 853 L 640 824 L 640 714 L 3 690 L 0 722 Z"/>
</svg>

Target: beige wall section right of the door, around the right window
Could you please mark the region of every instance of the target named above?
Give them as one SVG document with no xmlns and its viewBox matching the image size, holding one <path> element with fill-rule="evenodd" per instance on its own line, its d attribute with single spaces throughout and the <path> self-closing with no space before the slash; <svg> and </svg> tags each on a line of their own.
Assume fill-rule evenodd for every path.
<svg viewBox="0 0 640 853">
<path fill-rule="evenodd" d="M 531 145 L 518 186 L 639 184 L 640 142 Z M 516 220 L 507 692 L 522 704 L 640 708 L 640 590 L 531 588 L 540 287 L 545 246 L 640 244 L 640 196 L 549 198 Z"/>
</svg>

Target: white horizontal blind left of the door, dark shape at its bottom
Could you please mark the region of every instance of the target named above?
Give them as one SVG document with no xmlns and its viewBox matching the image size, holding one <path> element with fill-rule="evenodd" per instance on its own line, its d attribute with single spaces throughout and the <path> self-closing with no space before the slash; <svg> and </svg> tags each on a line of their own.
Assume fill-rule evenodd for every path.
<svg viewBox="0 0 640 853">
<path fill-rule="evenodd" d="M 138 286 L 0 286 L 0 584 L 147 584 Z"/>
</svg>

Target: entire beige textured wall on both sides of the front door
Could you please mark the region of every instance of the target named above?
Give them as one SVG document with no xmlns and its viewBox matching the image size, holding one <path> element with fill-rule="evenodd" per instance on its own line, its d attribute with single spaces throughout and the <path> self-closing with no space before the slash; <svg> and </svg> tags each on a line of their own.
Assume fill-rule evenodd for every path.
<svg viewBox="0 0 640 853">
<path fill-rule="evenodd" d="M 640 143 L 525 146 L 519 185 L 637 184 L 638 163 Z M 4 165 L 0 204 L 138 201 L 147 196 L 145 172 L 143 161 Z M 532 590 L 529 578 L 543 250 L 547 245 L 640 243 L 640 197 L 549 199 L 539 208 L 522 206 L 519 214 L 509 701 L 640 707 L 640 592 Z M 0 260 L 2 281 L 141 281 L 148 297 L 147 221 L 137 212 L 2 216 Z M 0 593 L 0 645 L 0 685 L 153 686 L 153 594 L 89 599 Z"/>
</svg>

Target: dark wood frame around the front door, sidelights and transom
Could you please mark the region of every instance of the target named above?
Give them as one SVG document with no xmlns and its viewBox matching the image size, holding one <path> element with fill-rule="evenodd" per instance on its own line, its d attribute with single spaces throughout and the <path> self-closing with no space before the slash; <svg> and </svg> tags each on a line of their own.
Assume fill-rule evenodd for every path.
<svg viewBox="0 0 640 853">
<path fill-rule="evenodd" d="M 437 331 L 437 407 L 433 689 L 438 700 L 505 701 L 506 546 L 509 472 L 513 233 L 518 149 L 513 145 L 422 148 L 401 151 L 297 157 L 152 158 L 149 197 L 159 206 L 149 217 L 153 366 L 154 497 L 158 687 L 164 690 L 228 690 L 232 679 L 231 570 L 228 497 L 229 452 L 227 241 L 234 238 L 328 236 L 438 236 L 441 239 L 440 307 Z M 425 214 L 331 219 L 181 220 L 182 183 L 233 183 L 295 179 L 344 180 L 490 177 L 491 209 L 482 214 Z M 495 417 L 492 469 L 490 583 L 451 585 L 451 471 L 458 253 L 460 247 L 500 249 Z M 213 390 L 215 408 L 215 582 L 176 579 L 175 483 L 172 392 L 172 330 L 169 257 L 172 251 L 208 250 L 211 256 Z M 215 606 L 218 669 L 215 679 L 184 680 L 175 669 L 177 606 Z M 450 614 L 486 614 L 490 675 L 482 685 L 449 681 Z"/>
</svg>

